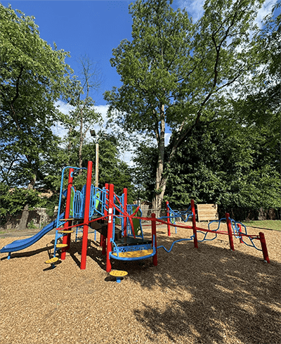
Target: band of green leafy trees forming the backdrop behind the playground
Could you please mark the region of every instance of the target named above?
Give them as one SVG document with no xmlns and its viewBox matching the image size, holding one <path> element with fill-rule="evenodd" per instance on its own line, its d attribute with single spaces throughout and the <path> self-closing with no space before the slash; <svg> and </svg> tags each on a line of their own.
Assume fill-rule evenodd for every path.
<svg viewBox="0 0 281 344">
<path fill-rule="evenodd" d="M 132 40 L 120 42 L 111 59 L 123 84 L 105 99 L 109 124 L 131 135 L 135 166 L 120 158 L 122 136 L 105 139 L 101 129 L 100 186 L 126 187 L 129 202 L 139 196 L 157 209 L 163 200 L 185 207 L 190 198 L 226 210 L 280 208 L 280 15 L 268 15 L 260 30 L 254 20 L 262 0 L 207 0 L 193 23 L 171 3 L 129 6 Z M 35 206 L 53 209 L 60 171 L 95 160 L 87 132 L 102 122 L 92 92 L 100 79 L 89 58 L 75 76 L 69 53 L 41 39 L 33 17 L 1 4 L 0 46 L 3 220 Z M 58 100 L 72 108 L 67 115 Z M 53 134 L 54 124 L 67 134 Z M 41 198 L 41 190 L 53 196 Z"/>
</svg>

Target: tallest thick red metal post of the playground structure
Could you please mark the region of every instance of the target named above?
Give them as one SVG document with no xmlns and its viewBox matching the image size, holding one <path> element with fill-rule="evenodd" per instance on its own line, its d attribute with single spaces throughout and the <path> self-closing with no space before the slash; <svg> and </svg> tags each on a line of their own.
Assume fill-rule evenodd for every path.
<svg viewBox="0 0 281 344">
<path fill-rule="evenodd" d="M 88 247 L 88 227 L 89 227 L 89 211 L 90 211 L 90 198 L 91 198 L 91 182 L 92 182 L 92 168 L 93 162 L 88 161 L 87 181 L 86 181 L 86 195 L 85 195 L 85 208 L 84 208 L 84 226 L 82 237 L 82 250 L 81 250 L 81 265 L 80 269 L 86 269 L 86 257 Z"/>
</svg>

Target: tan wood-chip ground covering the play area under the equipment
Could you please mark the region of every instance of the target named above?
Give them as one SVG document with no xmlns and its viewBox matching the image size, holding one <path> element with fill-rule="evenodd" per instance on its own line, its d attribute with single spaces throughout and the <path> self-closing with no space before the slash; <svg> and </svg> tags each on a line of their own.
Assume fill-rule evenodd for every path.
<svg viewBox="0 0 281 344">
<path fill-rule="evenodd" d="M 93 234 L 85 270 L 79 269 L 81 241 L 72 241 L 54 269 L 45 264 L 52 235 L 11 260 L 1 254 L 1 344 L 280 344 L 281 232 L 262 231 L 270 264 L 237 238 L 231 251 L 228 236 L 219 235 L 198 249 L 192 241 L 176 243 L 171 253 L 160 248 L 157 267 L 151 258 L 112 260 L 113 269 L 128 272 L 120 284 L 105 272 Z M 170 248 L 191 234 L 173 229 L 168 237 L 157 227 L 157 246 Z M 2 238 L 0 246 L 16 239 Z"/>
</svg>

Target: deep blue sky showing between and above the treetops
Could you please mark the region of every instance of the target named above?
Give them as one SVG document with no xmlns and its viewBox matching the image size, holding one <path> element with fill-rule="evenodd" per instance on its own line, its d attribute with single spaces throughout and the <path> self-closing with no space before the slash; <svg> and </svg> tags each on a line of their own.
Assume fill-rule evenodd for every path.
<svg viewBox="0 0 281 344">
<path fill-rule="evenodd" d="M 103 93 L 120 86 L 120 77 L 110 65 L 112 49 L 122 39 L 131 40 L 132 19 L 129 4 L 132 0 L 0 0 L 1 4 L 34 15 L 40 37 L 58 49 L 70 51 L 67 58 L 74 73 L 79 72 L 77 59 L 87 54 L 103 75 L 100 90 L 93 95 L 96 106 L 105 106 Z M 261 18 L 268 13 L 275 0 L 266 0 Z M 186 8 L 197 20 L 202 15 L 204 0 L 174 0 L 173 7 Z"/>
</svg>

